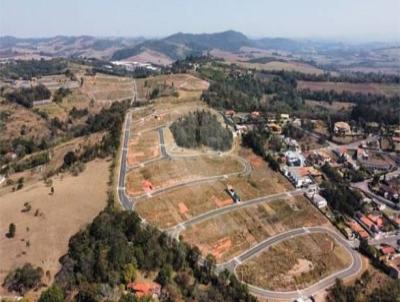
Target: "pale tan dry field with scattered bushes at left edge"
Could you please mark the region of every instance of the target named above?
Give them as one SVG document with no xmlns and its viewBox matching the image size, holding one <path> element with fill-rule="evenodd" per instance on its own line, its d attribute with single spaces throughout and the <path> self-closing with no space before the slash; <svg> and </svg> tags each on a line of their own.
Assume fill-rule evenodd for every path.
<svg viewBox="0 0 400 302">
<path fill-rule="evenodd" d="M 44 281 L 50 284 L 60 269 L 58 259 L 67 252 L 70 237 L 105 206 L 109 164 L 95 160 L 77 177 L 54 178 L 54 195 L 49 195 L 50 188 L 43 182 L 36 182 L 0 197 L 1 282 L 11 269 L 30 262 L 49 271 L 50 278 Z M 30 211 L 21 212 L 24 203 L 31 205 Z M 8 239 L 4 234 L 12 222 L 16 235 Z"/>
</svg>

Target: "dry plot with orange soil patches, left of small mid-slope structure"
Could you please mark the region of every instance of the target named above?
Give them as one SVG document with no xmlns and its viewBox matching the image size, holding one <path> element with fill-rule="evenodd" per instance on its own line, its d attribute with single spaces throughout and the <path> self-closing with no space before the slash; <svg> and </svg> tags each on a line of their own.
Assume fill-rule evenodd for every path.
<svg viewBox="0 0 400 302">
<path fill-rule="evenodd" d="M 226 180 L 197 184 L 139 202 L 139 215 L 160 228 L 169 228 L 202 213 L 233 203 Z"/>
</svg>

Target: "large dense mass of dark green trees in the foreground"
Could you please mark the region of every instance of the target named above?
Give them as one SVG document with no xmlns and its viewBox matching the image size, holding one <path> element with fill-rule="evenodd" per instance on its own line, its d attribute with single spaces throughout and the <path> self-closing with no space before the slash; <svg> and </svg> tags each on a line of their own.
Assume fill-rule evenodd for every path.
<svg viewBox="0 0 400 302">
<path fill-rule="evenodd" d="M 79 301 L 105 300 L 107 292 L 135 280 L 136 270 L 158 272 L 161 301 L 256 301 L 234 275 L 214 273 L 215 259 L 206 257 L 150 225 L 142 225 L 135 212 L 111 205 L 69 242 L 61 258 L 56 284 Z M 85 297 L 84 300 L 81 298 Z M 128 299 L 130 298 L 130 299 Z M 120 301 L 135 301 L 122 296 Z"/>
</svg>

